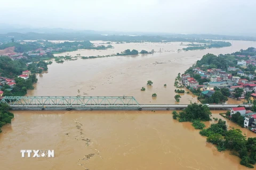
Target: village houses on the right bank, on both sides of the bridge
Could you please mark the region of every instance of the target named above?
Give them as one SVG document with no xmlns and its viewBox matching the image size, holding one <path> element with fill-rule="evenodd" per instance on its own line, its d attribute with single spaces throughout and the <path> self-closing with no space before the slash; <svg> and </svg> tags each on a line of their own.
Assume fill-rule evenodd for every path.
<svg viewBox="0 0 256 170">
<path fill-rule="evenodd" d="M 245 57 L 249 59 L 241 60 Z M 256 133 L 256 109 L 254 108 L 256 101 L 254 73 L 256 70 L 246 70 L 247 67 L 255 69 L 255 59 L 256 56 L 236 55 L 237 65 L 227 66 L 226 70 L 210 69 L 210 65 L 207 64 L 202 64 L 201 67 L 191 67 L 190 73 L 181 75 L 181 84 L 196 94 L 198 100 L 205 105 L 209 105 L 206 104 L 207 101 L 212 101 L 210 104 L 224 104 L 228 100 L 227 97 L 240 100 L 241 106 L 231 108 L 230 111 L 221 115 Z M 217 92 L 219 94 L 214 96 Z M 246 110 L 242 103 L 253 104 L 253 107 Z"/>
</svg>

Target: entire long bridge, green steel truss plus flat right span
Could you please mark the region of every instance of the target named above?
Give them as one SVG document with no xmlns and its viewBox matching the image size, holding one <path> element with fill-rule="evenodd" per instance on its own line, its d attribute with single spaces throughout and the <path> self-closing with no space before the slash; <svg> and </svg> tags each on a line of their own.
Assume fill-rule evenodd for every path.
<svg viewBox="0 0 256 170">
<path fill-rule="evenodd" d="M 1 103 L 8 104 L 12 109 L 41 110 L 159 110 L 183 109 L 188 105 L 179 104 L 139 104 L 132 96 L 5 96 Z M 238 105 L 209 105 L 210 109 L 230 109 Z M 246 108 L 252 105 L 243 105 Z"/>
</svg>

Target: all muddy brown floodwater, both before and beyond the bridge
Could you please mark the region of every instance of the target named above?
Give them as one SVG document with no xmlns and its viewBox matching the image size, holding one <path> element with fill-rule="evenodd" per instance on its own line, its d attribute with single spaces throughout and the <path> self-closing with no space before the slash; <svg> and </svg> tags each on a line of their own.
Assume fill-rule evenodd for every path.
<svg viewBox="0 0 256 170">
<path fill-rule="evenodd" d="M 76 96 L 79 89 L 81 95 L 126 95 L 141 104 L 172 104 L 175 77 L 204 54 L 231 53 L 255 45 L 233 41 L 233 47 L 177 53 L 172 51 L 182 48 L 180 43 L 130 43 L 114 44 L 114 49 L 101 52 L 69 52 L 90 56 L 163 48 L 163 53 L 151 55 L 53 62 L 47 73 L 38 76 L 28 96 Z M 152 80 L 153 86 L 147 87 L 147 80 Z M 140 91 L 142 86 L 146 91 Z M 153 100 L 154 92 L 157 98 Z M 184 94 L 180 103 L 189 104 L 190 100 L 197 101 Z M 0 169 L 247 169 L 239 165 L 238 157 L 206 143 L 190 123 L 174 121 L 171 112 L 13 111 L 12 124 L 0 133 Z M 220 111 L 213 112 L 213 117 L 221 118 Z M 247 137 L 256 136 L 242 130 Z M 55 158 L 21 158 L 21 149 L 54 149 Z"/>
</svg>

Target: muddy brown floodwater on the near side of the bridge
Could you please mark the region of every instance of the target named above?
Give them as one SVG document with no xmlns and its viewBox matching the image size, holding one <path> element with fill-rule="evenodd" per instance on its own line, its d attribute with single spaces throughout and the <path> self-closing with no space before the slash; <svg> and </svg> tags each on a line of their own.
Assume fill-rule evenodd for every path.
<svg viewBox="0 0 256 170">
<path fill-rule="evenodd" d="M 213 117 L 221 118 L 219 112 Z M 246 169 L 239 165 L 238 157 L 206 143 L 191 123 L 174 121 L 171 111 L 14 114 L 12 125 L 4 126 L 0 133 L 1 170 Z M 242 130 L 247 137 L 256 137 Z M 86 138 L 90 142 L 83 140 Z M 54 149 L 55 158 L 21 158 L 20 149 Z M 94 155 L 87 159 L 90 154 Z"/>
</svg>

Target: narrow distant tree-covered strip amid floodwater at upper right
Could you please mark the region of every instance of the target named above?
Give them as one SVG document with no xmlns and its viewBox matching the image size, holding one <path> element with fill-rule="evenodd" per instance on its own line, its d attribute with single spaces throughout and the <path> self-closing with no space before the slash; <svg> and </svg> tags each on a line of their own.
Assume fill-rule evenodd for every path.
<svg viewBox="0 0 256 170">
<path fill-rule="evenodd" d="M 209 44 L 189 44 L 191 47 L 182 48 L 182 50 L 197 50 L 197 49 L 206 49 L 206 48 L 221 48 L 221 47 L 229 47 L 231 43 L 224 41 L 209 41 Z"/>
</svg>

